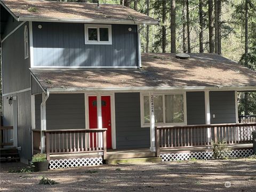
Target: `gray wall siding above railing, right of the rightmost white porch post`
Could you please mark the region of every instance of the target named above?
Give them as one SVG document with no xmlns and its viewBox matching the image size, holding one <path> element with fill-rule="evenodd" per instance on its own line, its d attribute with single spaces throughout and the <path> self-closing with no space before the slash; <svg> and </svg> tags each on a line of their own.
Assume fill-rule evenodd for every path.
<svg viewBox="0 0 256 192">
<path fill-rule="evenodd" d="M 236 123 L 235 91 L 210 91 L 210 113 L 211 124 Z"/>
</svg>

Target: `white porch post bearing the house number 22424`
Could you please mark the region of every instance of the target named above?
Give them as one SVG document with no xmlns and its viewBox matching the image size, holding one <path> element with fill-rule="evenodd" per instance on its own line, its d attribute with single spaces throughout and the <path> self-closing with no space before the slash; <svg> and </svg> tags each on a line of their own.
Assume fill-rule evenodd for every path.
<svg viewBox="0 0 256 192">
<path fill-rule="evenodd" d="M 150 151 L 156 152 L 154 94 L 149 92 L 150 109 Z"/>
</svg>

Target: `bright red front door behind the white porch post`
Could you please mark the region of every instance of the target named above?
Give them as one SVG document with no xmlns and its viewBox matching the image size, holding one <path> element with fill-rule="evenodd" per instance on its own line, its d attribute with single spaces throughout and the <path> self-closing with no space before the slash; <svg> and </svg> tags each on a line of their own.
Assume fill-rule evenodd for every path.
<svg viewBox="0 0 256 192">
<path fill-rule="evenodd" d="M 97 129 L 97 97 L 90 96 L 89 102 L 89 128 Z M 102 128 L 107 128 L 107 148 L 112 148 L 111 139 L 111 105 L 110 96 L 101 96 Z M 95 141 L 95 140 L 94 140 Z"/>
</svg>

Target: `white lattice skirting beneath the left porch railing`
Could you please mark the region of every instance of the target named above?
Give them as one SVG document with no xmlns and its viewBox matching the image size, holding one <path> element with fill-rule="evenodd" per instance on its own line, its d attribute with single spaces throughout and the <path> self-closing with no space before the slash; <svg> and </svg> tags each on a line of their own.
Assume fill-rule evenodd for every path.
<svg viewBox="0 0 256 192">
<path fill-rule="evenodd" d="M 73 158 L 73 159 L 55 159 L 50 161 L 50 169 L 62 169 L 76 166 L 95 166 L 102 165 L 102 158 Z"/>
</svg>

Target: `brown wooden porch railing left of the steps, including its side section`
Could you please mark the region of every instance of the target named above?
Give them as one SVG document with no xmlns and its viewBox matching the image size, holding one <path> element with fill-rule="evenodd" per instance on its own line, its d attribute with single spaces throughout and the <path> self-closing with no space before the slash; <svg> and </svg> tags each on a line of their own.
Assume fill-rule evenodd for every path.
<svg viewBox="0 0 256 192">
<path fill-rule="evenodd" d="M 107 154 L 106 131 L 107 129 L 70 129 L 43 131 L 45 135 L 46 157 L 49 160 L 50 155 L 53 154 L 102 152 L 104 158 Z M 35 133 L 36 131 L 33 132 L 33 142 L 38 143 L 37 136 L 37 139 L 34 140 Z M 38 144 L 34 144 L 34 149 L 37 147 Z"/>
</svg>

